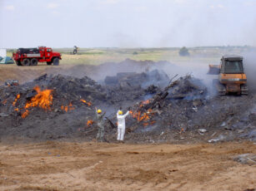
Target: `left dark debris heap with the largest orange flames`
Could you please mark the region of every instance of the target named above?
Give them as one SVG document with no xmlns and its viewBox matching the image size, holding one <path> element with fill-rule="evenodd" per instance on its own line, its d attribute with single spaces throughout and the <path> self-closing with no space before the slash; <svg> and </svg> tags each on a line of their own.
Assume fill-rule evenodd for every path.
<svg viewBox="0 0 256 191">
<path fill-rule="evenodd" d="M 138 76 L 138 81 L 139 76 L 148 79 L 145 73 L 134 76 Z M 87 76 L 78 79 L 63 75 L 43 75 L 20 86 L 1 86 L 1 135 L 21 133 L 21 136 L 39 139 L 78 136 L 80 130 L 95 128 L 95 106 L 108 108 L 108 115 L 111 115 L 120 106 L 120 101 L 121 105 L 133 105 L 148 95 L 138 83 L 118 86 L 114 89 L 118 91 L 111 88 Z"/>
</svg>

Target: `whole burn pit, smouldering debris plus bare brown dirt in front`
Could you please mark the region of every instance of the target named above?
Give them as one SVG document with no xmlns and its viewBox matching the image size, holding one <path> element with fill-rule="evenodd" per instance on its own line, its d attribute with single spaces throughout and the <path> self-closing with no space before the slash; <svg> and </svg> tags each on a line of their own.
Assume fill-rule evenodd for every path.
<svg viewBox="0 0 256 191">
<path fill-rule="evenodd" d="M 177 71 L 125 60 L 0 86 L 0 189 L 253 190 L 254 91 L 217 96 Z M 95 107 L 106 111 L 103 143 Z"/>
</svg>

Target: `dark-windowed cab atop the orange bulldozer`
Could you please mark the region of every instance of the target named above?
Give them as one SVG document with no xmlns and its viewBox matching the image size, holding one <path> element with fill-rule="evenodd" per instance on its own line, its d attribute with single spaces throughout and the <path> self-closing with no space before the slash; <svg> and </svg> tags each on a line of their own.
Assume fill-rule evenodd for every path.
<svg viewBox="0 0 256 191">
<path fill-rule="evenodd" d="M 243 57 L 242 56 L 223 56 L 221 58 L 220 73 L 243 74 Z"/>
</svg>

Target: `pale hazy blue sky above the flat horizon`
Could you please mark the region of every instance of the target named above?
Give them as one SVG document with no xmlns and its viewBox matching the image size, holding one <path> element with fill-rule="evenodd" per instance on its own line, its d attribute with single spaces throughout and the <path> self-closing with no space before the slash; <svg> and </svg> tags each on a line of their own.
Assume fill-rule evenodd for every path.
<svg viewBox="0 0 256 191">
<path fill-rule="evenodd" d="M 0 0 L 0 23 L 0 47 L 256 46 L 256 0 Z"/>
</svg>

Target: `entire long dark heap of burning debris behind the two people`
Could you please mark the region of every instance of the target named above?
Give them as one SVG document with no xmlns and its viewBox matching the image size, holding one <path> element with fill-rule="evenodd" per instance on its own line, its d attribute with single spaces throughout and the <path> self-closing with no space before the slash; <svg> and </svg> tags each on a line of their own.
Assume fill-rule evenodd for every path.
<svg viewBox="0 0 256 191">
<path fill-rule="evenodd" d="M 174 139 L 173 134 L 163 136 L 169 130 L 178 135 L 186 131 L 198 135 L 198 129 L 208 131 L 229 118 L 229 126 L 239 125 L 238 116 L 248 109 L 248 105 L 241 104 L 243 97 L 218 100 L 207 95 L 202 81 L 193 76 L 170 81 L 163 71 L 157 70 L 118 73 L 106 77 L 102 84 L 88 76 L 78 79 L 43 75 L 23 85 L 0 87 L 0 135 L 2 139 L 14 136 L 93 140 L 97 133 L 94 107 L 107 112 L 105 130 L 109 141 L 115 140 L 116 112 L 120 106 L 130 110 L 127 139 L 131 142 Z M 253 125 L 250 121 L 254 115 L 248 115 L 242 125 Z"/>
</svg>

